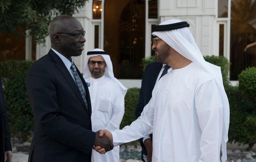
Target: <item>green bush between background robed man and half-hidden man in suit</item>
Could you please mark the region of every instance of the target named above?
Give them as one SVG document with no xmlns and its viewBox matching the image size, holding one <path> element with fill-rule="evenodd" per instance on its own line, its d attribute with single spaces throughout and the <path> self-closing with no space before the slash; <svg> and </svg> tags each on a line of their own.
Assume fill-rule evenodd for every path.
<svg viewBox="0 0 256 162">
<path fill-rule="evenodd" d="M 130 125 L 135 120 L 135 108 L 140 95 L 139 88 L 130 88 L 124 97 L 124 117 L 120 124 L 120 129 Z"/>
</svg>

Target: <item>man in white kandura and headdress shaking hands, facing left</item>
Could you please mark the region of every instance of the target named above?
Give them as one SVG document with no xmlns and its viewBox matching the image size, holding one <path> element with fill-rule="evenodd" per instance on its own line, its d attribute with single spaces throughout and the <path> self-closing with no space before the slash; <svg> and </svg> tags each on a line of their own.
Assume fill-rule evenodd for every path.
<svg viewBox="0 0 256 162">
<path fill-rule="evenodd" d="M 227 159 L 229 104 L 220 67 L 204 60 L 188 27 L 180 20 L 153 27 L 152 49 L 172 71 L 130 126 L 100 131 L 114 146 L 153 132 L 153 162 L 220 162 L 220 147 L 222 162 Z"/>
</svg>

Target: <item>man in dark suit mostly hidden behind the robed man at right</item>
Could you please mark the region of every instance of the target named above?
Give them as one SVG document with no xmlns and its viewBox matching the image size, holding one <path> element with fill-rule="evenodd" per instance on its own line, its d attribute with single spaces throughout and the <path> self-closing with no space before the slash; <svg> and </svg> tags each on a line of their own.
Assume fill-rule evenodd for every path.
<svg viewBox="0 0 256 162">
<path fill-rule="evenodd" d="M 157 41 L 157 38 L 153 42 Z M 153 48 L 153 46 L 152 46 Z M 163 64 L 158 62 L 159 58 L 161 56 L 158 56 L 158 50 L 153 49 L 156 52 L 156 62 L 153 62 L 149 64 L 145 68 L 145 72 L 143 73 L 142 80 L 141 80 L 141 88 L 140 88 L 140 96 L 139 101 L 136 106 L 135 110 L 135 118 L 139 118 L 141 112 L 143 111 L 143 108 L 148 104 L 149 100 L 152 97 L 152 91 L 155 87 L 156 82 L 164 76 L 166 73 L 171 71 L 171 68 L 167 64 Z M 161 51 L 163 52 L 163 51 Z M 142 147 L 141 150 L 141 160 L 145 161 L 146 158 L 148 162 L 151 162 L 152 160 L 152 134 L 149 135 L 149 137 L 141 138 L 140 139 L 140 145 Z"/>
</svg>

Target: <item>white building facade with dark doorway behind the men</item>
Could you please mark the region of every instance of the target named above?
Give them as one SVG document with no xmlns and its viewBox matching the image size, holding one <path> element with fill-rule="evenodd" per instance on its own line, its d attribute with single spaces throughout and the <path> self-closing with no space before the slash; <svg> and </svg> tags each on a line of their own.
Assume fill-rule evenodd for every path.
<svg viewBox="0 0 256 162">
<path fill-rule="evenodd" d="M 203 55 L 224 56 L 230 60 L 231 4 L 232 0 L 89 0 L 73 15 L 86 31 L 84 51 L 73 61 L 83 73 L 87 51 L 103 49 L 112 59 L 116 77 L 128 88 L 140 87 L 140 60 L 153 55 L 152 26 L 168 19 L 190 24 L 189 30 Z M 27 42 L 26 58 L 30 58 Z M 36 45 L 36 60 L 50 48 L 47 37 L 46 46 Z M 255 66 L 256 61 L 252 64 Z"/>
</svg>

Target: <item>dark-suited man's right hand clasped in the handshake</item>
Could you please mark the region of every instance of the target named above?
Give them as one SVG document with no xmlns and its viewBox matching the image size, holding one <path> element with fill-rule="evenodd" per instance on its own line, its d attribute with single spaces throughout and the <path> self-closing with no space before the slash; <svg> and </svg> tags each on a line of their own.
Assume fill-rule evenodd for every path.
<svg viewBox="0 0 256 162">
<path fill-rule="evenodd" d="M 100 131 L 96 132 L 96 138 L 95 138 L 95 141 L 93 143 L 93 149 L 102 154 L 102 153 L 105 153 L 105 152 L 108 152 L 108 151 L 112 150 L 114 148 L 114 145 L 108 139 L 108 137 L 106 135 L 99 136 Z M 94 147 L 94 146 L 96 146 L 96 147 Z M 97 147 L 97 146 L 100 146 L 100 147 Z"/>
</svg>

